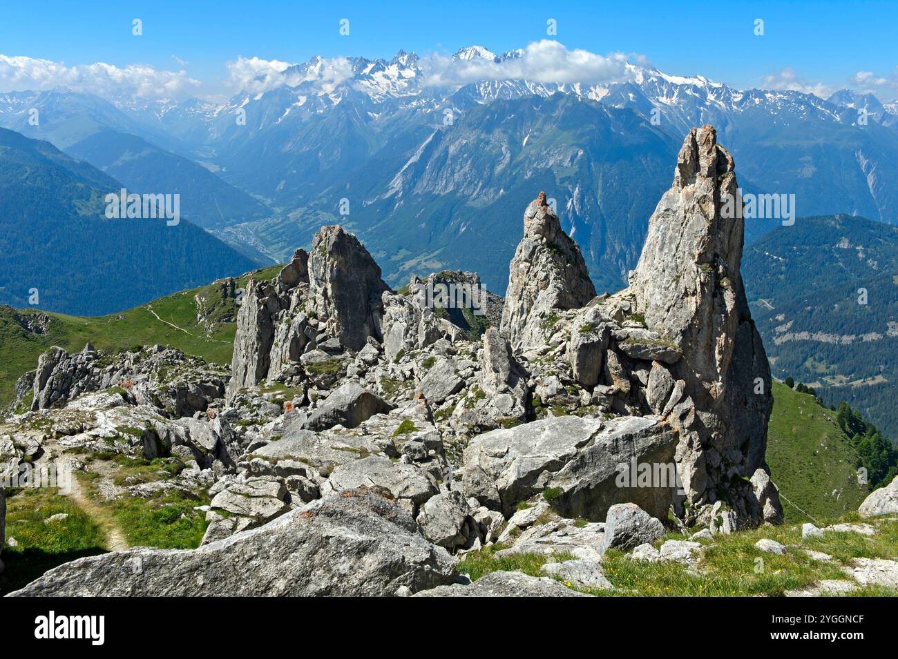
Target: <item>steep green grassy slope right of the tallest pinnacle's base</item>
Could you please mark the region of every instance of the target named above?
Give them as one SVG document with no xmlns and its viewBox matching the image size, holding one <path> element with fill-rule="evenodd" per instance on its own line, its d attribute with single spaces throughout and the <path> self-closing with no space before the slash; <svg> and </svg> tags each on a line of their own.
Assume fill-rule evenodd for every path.
<svg viewBox="0 0 898 659">
<path fill-rule="evenodd" d="M 821 407 L 812 395 L 773 382 L 767 464 L 787 522 L 830 519 L 857 510 L 868 492 L 858 485 L 854 460 L 854 448 L 835 412 Z"/>
</svg>

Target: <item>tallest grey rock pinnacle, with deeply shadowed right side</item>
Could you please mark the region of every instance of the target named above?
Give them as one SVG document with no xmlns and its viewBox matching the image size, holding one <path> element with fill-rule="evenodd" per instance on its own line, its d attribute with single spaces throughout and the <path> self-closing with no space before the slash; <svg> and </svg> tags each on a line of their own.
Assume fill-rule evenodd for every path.
<svg viewBox="0 0 898 659">
<path fill-rule="evenodd" d="M 741 212 L 726 212 L 742 204 L 734 167 L 713 127 L 691 130 L 674 185 L 648 222 L 629 292 L 648 329 L 682 351 L 674 379 L 682 379 L 682 400 L 695 413 L 672 423 L 681 436 L 677 463 L 689 503 L 713 503 L 723 490 L 740 516 L 773 522 L 782 515 L 775 489 L 759 502 L 744 482 L 759 469 L 769 472 L 764 452 L 773 398 L 739 273 L 744 222 Z"/>
</svg>

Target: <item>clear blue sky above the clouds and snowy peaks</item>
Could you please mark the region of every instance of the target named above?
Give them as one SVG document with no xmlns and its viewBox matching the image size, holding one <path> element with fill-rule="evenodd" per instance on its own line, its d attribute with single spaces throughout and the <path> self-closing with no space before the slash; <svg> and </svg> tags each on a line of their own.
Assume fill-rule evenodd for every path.
<svg viewBox="0 0 898 659">
<path fill-rule="evenodd" d="M 553 18 L 554 38 L 567 48 L 638 54 L 666 73 L 704 74 L 749 88 L 773 86 L 786 69 L 787 77 L 832 90 L 868 72 L 882 79 L 877 93 L 898 96 L 895 3 L 163 0 L 39 6 L 0 7 L 0 53 L 68 66 L 183 68 L 207 92 L 221 89 L 225 63 L 238 56 L 301 62 L 313 55 L 389 57 L 399 48 L 451 54 L 475 43 L 502 52 L 546 39 L 546 21 Z M 131 34 L 134 18 L 143 21 L 141 37 Z M 339 35 L 341 18 L 350 21 L 349 36 Z M 759 18 L 762 37 L 753 33 Z"/>
</svg>

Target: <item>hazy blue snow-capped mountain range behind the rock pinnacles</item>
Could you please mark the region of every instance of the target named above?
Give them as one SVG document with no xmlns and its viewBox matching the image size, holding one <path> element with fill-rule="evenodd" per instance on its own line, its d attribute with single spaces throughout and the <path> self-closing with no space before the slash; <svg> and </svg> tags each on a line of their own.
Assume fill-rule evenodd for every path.
<svg viewBox="0 0 898 659">
<path fill-rule="evenodd" d="M 521 54 L 471 47 L 453 58 L 501 65 Z M 127 169 L 136 181 L 172 185 L 154 172 L 171 161 L 154 153 L 123 162 L 149 147 L 107 131 L 139 137 L 210 171 L 214 181 L 189 172 L 198 189 L 184 192 L 200 200 L 196 221 L 232 245 L 283 262 L 311 228 L 339 222 L 371 244 L 393 285 L 463 260 L 491 290 L 504 290 L 497 264 L 520 228 L 501 209 L 539 187 L 583 247 L 596 285 L 619 288 L 645 235 L 648 200 L 667 184 L 658 163 L 689 127 L 707 123 L 733 152 L 744 191 L 794 194 L 802 216 L 898 221 L 898 114 L 869 94 L 740 91 L 632 64 L 625 82 L 586 85 L 435 83 L 404 51 L 348 58 L 338 78 L 328 77 L 330 63 L 316 56 L 289 66 L 225 103 L 15 92 L 0 96 L 0 125 L 114 176 L 128 178 Z M 40 108 L 40 126 L 29 124 L 30 108 Z M 778 223 L 746 221 L 747 238 Z"/>
</svg>

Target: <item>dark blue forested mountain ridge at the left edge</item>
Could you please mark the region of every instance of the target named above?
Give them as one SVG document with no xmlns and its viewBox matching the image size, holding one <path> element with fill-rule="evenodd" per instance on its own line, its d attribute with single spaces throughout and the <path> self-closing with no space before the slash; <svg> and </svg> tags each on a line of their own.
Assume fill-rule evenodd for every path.
<svg viewBox="0 0 898 659">
<path fill-rule="evenodd" d="M 0 303 L 114 312 L 256 265 L 186 220 L 107 218 L 106 195 L 121 187 L 50 143 L 0 128 Z"/>
</svg>

